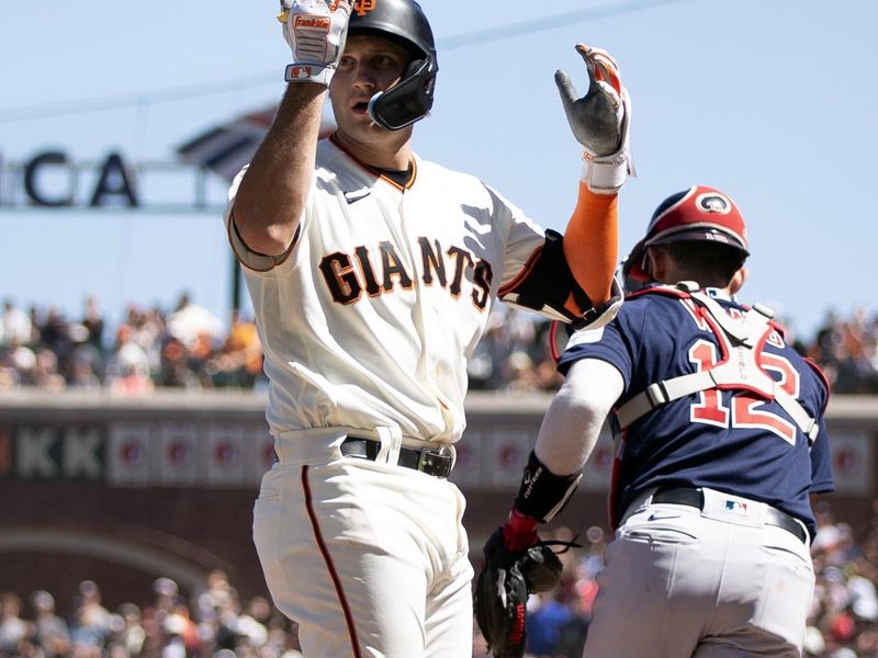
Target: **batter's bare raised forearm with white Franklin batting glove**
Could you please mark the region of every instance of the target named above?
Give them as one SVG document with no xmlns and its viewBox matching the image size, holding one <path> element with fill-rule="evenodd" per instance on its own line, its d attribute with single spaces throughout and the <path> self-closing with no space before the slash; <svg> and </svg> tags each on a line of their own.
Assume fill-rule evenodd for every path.
<svg viewBox="0 0 878 658">
<path fill-rule="evenodd" d="M 299 228 L 314 177 L 323 105 L 345 49 L 350 11 L 350 0 L 281 0 L 278 20 L 293 55 L 284 75 L 290 84 L 230 213 L 229 230 L 257 256 L 285 253 Z"/>
</svg>

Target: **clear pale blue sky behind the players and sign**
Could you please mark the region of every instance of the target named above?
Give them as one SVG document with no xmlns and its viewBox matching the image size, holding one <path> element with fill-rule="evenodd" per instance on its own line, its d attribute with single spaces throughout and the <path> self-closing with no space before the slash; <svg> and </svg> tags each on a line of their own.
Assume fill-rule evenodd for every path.
<svg viewBox="0 0 878 658">
<path fill-rule="evenodd" d="M 543 226 L 563 229 L 579 159 L 552 76 L 565 68 L 584 89 L 573 46 L 604 47 L 633 102 L 639 177 L 622 192 L 620 256 L 665 196 L 709 184 L 748 224 L 745 300 L 774 305 L 802 338 L 829 309 L 878 309 L 869 203 L 878 3 L 423 7 L 440 66 L 434 113 L 415 133 L 423 157 L 480 175 Z M 3 2 L 0 158 L 57 149 L 78 161 L 110 151 L 173 160 L 188 139 L 280 98 L 289 49 L 275 10 L 273 0 Z M 169 307 L 188 291 L 228 313 L 232 263 L 216 214 L 0 209 L 0 297 L 76 317 L 93 294 L 116 320 L 128 303 Z"/>
</svg>

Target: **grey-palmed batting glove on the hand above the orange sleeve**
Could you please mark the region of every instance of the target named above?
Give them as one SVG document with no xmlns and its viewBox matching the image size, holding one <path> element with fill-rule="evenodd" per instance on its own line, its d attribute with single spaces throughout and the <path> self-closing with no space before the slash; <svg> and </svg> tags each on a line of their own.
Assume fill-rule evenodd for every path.
<svg viewBox="0 0 878 658">
<path fill-rule="evenodd" d="M 619 79 L 619 65 L 605 50 L 577 44 L 588 69 L 588 93 L 576 92 L 566 71 L 555 84 L 574 137 L 583 147 L 582 180 L 596 194 L 616 194 L 634 167 L 628 150 L 631 100 Z"/>
</svg>

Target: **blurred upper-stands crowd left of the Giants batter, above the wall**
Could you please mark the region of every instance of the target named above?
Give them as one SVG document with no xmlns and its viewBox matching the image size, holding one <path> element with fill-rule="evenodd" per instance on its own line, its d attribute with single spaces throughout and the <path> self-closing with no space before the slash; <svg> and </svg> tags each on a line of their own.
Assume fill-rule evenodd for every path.
<svg viewBox="0 0 878 658">
<path fill-rule="evenodd" d="M 112 331 L 94 297 L 80 317 L 55 307 L 0 315 L 0 390 L 105 389 L 138 395 L 157 387 L 260 388 L 262 351 L 251 320 L 228 322 L 183 294 L 170 310 L 130 305 Z"/>
</svg>

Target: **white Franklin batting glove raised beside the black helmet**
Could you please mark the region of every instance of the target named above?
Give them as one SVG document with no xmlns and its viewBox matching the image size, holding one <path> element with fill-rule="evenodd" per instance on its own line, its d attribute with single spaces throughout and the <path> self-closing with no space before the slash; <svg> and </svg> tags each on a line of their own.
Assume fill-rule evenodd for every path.
<svg viewBox="0 0 878 658">
<path fill-rule="evenodd" d="M 293 52 L 288 82 L 319 82 L 329 87 L 345 49 L 351 0 L 281 0 L 278 20 Z"/>
</svg>

